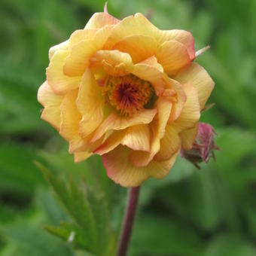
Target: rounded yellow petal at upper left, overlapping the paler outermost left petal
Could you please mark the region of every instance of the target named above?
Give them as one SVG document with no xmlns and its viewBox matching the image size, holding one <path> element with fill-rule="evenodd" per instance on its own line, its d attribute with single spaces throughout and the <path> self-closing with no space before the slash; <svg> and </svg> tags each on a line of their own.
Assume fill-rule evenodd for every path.
<svg viewBox="0 0 256 256">
<path fill-rule="evenodd" d="M 111 26 L 105 26 L 96 32 L 94 38 L 85 39 L 73 45 L 65 60 L 64 74 L 69 76 L 83 75 L 90 64 L 90 57 L 97 50 L 102 49 L 111 29 Z"/>
</svg>

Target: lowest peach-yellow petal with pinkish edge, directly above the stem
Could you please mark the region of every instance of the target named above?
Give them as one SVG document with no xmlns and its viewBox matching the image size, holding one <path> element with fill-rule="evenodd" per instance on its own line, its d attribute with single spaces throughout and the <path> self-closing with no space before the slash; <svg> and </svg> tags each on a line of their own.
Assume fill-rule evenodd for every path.
<svg viewBox="0 0 256 256">
<path fill-rule="evenodd" d="M 165 177 L 175 163 L 178 151 L 169 160 L 163 162 L 151 161 L 145 167 L 133 166 L 129 155 L 130 149 L 120 145 L 102 156 L 102 162 L 108 177 L 123 187 L 137 187 L 151 176 L 154 178 Z"/>
</svg>

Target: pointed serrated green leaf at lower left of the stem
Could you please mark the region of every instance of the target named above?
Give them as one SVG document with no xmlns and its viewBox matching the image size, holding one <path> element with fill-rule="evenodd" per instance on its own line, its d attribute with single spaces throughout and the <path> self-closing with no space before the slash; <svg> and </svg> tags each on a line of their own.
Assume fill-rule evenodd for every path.
<svg viewBox="0 0 256 256">
<path fill-rule="evenodd" d="M 39 163 L 37 165 L 72 218 L 72 223 L 62 222 L 59 227 L 47 225 L 45 229 L 77 248 L 96 255 L 113 255 L 116 239 L 109 223 L 104 194 L 91 190 L 86 184 L 78 187 L 71 178 L 66 184 Z"/>
</svg>

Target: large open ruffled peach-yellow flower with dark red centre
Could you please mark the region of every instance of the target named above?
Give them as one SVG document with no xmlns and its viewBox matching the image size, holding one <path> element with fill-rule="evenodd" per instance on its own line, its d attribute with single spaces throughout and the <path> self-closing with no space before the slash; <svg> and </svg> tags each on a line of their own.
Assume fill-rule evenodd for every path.
<svg viewBox="0 0 256 256">
<path fill-rule="evenodd" d="M 99 154 L 111 179 L 133 187 L 166 176 L 192 147 L 214 82 L 193 62 L 190 32 L 157 29 L 142 14 L 96 13 L 49 58 L 41 118 L 75 162 Z"/>
</svg>

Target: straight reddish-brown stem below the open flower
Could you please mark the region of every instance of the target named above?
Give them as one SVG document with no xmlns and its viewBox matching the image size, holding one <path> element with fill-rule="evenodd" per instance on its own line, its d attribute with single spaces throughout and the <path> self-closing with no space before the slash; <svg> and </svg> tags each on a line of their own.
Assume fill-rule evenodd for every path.
<svg viewBox="0 0 256 256">
<path fill-rule="evenodd" d="M 117 256 L 126 256 L 127 248 L 133 230 L 133 222 L 139 201 L 140 187 L 131 187 L 126 205 L 126 213 L 123 219 L 122 233 L 120 236 Z"/>
</svg>

